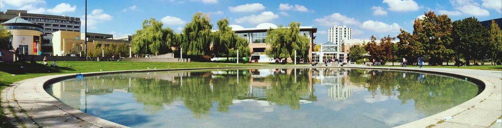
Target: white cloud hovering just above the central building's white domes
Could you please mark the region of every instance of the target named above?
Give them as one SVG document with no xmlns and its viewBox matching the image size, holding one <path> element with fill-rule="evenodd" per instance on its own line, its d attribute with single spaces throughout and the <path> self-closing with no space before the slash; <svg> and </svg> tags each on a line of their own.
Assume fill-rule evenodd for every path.
<svg viewBox="0 0 502 128">
<path fill-rule="evenodd" d="M 240 18 L 235 19 L 236 23 L 251 23 L 251 24 L 258 24 L 258 23 L 264 23 L 264 22 L 269 22 L 272 21 L 275 18 L 278 18 L 279 15 L 275 14 L 272 11 L 264 11 L 258 15 L 252 14 L 249 16 L 243 16 Z"/>
</svg>

